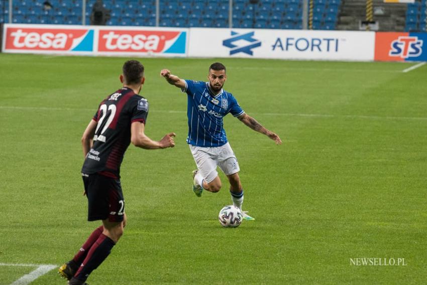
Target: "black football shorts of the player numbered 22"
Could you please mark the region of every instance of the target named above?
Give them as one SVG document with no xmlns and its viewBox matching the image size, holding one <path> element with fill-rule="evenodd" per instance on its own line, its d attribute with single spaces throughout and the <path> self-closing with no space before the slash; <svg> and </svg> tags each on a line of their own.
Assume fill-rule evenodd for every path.
<svg viewBox="0 0 427 285">
<path fill-rule="evenodd" d="M 98 173 L 81 175 L 88 200 L 87 220 L 122 222 L 125 200 L 120 180 Z"/>
</svg>

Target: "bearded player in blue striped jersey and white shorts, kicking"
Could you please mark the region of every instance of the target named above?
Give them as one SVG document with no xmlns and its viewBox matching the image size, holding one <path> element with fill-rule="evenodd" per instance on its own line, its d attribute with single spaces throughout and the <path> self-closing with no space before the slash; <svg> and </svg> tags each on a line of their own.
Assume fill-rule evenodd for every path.
<svg viewBox="0 0 427 285">
<path fill-rule="evenodd" d="M 188 137 L 187 143 L 197 165 L 193 171 L 193 191 L 200 197 L 203 189 L 217 193 L 221 189 L 221 179 L 217 166 L 227 175 L 233 205 L 242 209 L 243 188 L 239 177 L 239 163 L 223 128 L 223 117 L 231 113 L 252 130 L 260 132 L 276 144 L 281 144 L 279 136 L 246 114 L 230 92 L 223 89 L 227 80 L 226 67 L 219 62 L 209 67 L 208 81 L 183 80 L 163 69 L 160 72 L 169 84 L 187 93 Z M 255 220 L 246 211 L 244 220 Z"/>
</svg>

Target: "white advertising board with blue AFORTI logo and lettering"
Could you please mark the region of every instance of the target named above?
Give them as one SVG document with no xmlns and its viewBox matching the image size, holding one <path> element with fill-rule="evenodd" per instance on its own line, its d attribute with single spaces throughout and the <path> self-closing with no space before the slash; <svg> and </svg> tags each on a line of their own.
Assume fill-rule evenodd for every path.
<svg viewBox="0 0 427 285">
<path fill-rule="evenodd" d="M 188 54 L 304 60 L 374 60 L 374 32 L 191 28 Z"/>
</svg>

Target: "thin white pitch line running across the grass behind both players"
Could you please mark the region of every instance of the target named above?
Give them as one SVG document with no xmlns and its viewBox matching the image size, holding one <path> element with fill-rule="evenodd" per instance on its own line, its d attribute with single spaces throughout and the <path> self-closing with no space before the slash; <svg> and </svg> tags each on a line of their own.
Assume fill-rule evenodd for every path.
<svg viewBox="0 0 427 285">
<path fill-rule="evenodd" d="M 12 110 L 39 110 L 39 111 L 94 111 L 86 108 L 50 108 L 50 107 L 20 107 L 0 106 L 0 109 Z M 153 113 L 186 114 L 187 111 L 179 110 L 152 110 Z M 301 113 L 251 113 L 261 116 L 285 116 L 285 117 L 314 117 L 314 118 L 350 118 L 350 119 L 375 119 L 375 120 L 427 120 L 427 117 L 395 117 L 395 116 L 368 116 L 368 115 L 334 115 L 334 114 L 301 114 Z"/>
</svg>

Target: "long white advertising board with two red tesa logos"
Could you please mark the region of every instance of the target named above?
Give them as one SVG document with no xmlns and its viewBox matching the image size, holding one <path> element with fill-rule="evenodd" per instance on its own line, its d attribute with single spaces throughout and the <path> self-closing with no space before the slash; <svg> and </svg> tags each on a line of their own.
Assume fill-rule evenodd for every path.
<svg viewBox="0 0 427 285">
<path fill-rule="evenodd" d="M 5 24 L 3 52 L 186 56 L 188 29 Z"/>
</svg>

